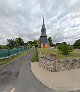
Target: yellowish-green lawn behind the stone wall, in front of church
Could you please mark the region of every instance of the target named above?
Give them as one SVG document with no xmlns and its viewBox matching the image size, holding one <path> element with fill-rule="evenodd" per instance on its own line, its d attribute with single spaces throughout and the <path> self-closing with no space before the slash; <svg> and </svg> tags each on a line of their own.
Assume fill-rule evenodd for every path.
<svg viewBox="0 0 80 92">
<path fill-rule="evenodd" d="M 62 55 L 58 49 L 53 48 L 38 48 L 38 51 L 42 53 L 43 56 L 49 55 L 50 53 L 56 53 L 57 59 L 71 57 L 71 58 L 79 58 L 80 57 L 80 49 L 75 49 L 70 55 Z"/>
</svg>

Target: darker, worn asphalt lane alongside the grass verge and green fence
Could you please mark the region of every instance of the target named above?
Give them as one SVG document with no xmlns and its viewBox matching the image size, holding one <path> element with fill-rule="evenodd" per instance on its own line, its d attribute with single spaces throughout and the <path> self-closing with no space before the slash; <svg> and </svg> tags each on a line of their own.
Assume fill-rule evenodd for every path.
<svg viewBox="0 0 80 92">
<path fill-rule="evenodd" d="M 0 66 L 0 92 L 10 92 L 15 87 L 22 65 L 31 60 L 34 49 L 13 62 Z"/>
</svg>

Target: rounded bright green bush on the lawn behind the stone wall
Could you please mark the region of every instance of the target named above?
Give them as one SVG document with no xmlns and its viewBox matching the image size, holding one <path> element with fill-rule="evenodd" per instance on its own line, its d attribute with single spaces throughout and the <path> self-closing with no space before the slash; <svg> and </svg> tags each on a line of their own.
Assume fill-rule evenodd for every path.
<svg viewBox="0 0 80 92">
<path fill-rule="evenodd" d="M 63 42 L 62 44 L 60 44 L 58 46 L 59 51 L 63 54 L 63 55 L 68 55 L 70 54 L 70 52 L 72 52 L 73 48 L 72 46 L 70 46 L 69 44 L 67 44 L 66 42 Z"/>
</svg>

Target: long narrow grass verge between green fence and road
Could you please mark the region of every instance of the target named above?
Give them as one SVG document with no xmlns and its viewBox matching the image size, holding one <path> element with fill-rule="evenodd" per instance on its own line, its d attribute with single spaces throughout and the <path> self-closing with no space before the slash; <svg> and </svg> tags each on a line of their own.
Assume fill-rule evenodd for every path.
<svg viewBox="0 0 80 92">
<path fill-rule="evenodd" d="M 21 53 L 18 53 L 17 55 L 11 56 L 11 57 L 9 57 L 9 58 L 0 59 L 0 65 L 9 63 L 9 62 L 11 62 L 11 61 L 17 59 L 18 57 L 24 55 L 24 54 L 27 53 L 27 52 L 28 52 L 28 50 L 25 50 L 25 51 L 23 51 L 23 52 L 21 52 Z"/>
</svg>

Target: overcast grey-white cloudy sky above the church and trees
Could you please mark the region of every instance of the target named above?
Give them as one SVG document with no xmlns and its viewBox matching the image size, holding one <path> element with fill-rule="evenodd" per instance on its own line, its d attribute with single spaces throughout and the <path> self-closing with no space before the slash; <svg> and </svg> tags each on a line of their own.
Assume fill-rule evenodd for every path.
<svg viewBox="0 0 80 92">
<path fill-rule="evenodd" d="M 43 15 L 53 43 L 80 39 L 80 0 L 0 0 L 0 44 L 39 39 Z"/>
</svg>

